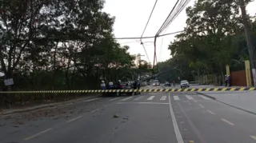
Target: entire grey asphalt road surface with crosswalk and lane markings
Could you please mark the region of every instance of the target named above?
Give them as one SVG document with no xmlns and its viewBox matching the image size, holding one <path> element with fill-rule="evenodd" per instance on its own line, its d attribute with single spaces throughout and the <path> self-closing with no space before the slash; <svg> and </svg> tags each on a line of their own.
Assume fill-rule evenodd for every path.
<svg viewBox="0 0 256 143">
<path fill-rule="evenodd" d="M 1 143 L 248 143 L 256 116 L 197 93 L 97 97 L 0 117 Z"/>
</svg>

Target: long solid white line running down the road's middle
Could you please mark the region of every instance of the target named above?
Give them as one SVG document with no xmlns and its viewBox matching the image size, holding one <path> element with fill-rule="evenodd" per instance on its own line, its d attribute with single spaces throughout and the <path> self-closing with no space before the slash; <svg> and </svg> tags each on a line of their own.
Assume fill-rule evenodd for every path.
<svg viewBox="0 0 256 143">
<path fill-rule="evenodd" d="M 177 142 L 178 143 L 184 143 L 184 141 L 182 139 L 182 135 L 181 135 L 181 133 L 178 129 L 178 123 L 177 123 L 175 115 L 174 115 L 174 109 L 171 106 L 170 96 L 168 96 L 168 98 L 169 98 L 170 117 L 171 117 L 171 120 L 173 121 L 174 132 L 175 132 L 175 135 L 176 135 Z"/>
</svg>

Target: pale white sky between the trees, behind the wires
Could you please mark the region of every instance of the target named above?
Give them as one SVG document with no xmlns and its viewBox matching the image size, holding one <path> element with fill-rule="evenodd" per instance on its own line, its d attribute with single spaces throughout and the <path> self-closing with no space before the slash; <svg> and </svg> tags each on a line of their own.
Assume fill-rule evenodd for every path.
<svg viewBox="0 0 256 143">
<path fill-rule="evenodd" d="M 195 0 L 191 0 L 187 6 L 193 6 Z M 154 6 L 155 0 L 106 0 L 103 11 L 115 17 L 114 22 L 114 35 L 116 38 L 123 37 L 138 37 L 140 38 L 142 32 L 146 26 L 146 22 L 150 16 L 150 12 Z M 154 13 L 150 18 L 150 22 L 144 33 L 146 36 L 154 36 L 162 23 L 166 20 L 166 17 L 173 8 L 176 0 L 158 0 L 157 5 L 154 8 Z M 246 10 L 249 14 L 256 13 L 256 1 L 251 2 Z M 174 19 L 165 31 L 165 34 L 173 33 L 183 30 L 186 26 L 186 8 Z M 168 35 L 157 39 L 157 61 L 164 62 L 170 57 L 170 50 L 168 46 L 170 42 L 174 40 L 173 35 Z M 142 42 L 146 47 L 146 53 L 137 40 L 118 40 L 122 46 L 130 46 L 130 54 L 142 54 L 142 60 L 148 61 L 146 53 L 150 58 L 150 63 L 153 64 L 154 59 L 154 38 L 144 39 Z"/>
</svg>

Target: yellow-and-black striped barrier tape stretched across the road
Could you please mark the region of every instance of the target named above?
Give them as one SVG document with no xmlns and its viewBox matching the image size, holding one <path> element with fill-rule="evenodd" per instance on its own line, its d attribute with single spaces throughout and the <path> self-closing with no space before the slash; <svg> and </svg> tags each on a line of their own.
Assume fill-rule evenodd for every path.
<svg viewBox="0 0 256 143">
<path fill-rule="evenodd" d="M 94 90 L 46 90 L 46 91 L 0 91 L 0 93 L 130 93 L 130 92 L 202 92 L 202 91 L 252 91 L 256 88 L 206 88 L 206 89 L 94 89 Z"/>
</svg>

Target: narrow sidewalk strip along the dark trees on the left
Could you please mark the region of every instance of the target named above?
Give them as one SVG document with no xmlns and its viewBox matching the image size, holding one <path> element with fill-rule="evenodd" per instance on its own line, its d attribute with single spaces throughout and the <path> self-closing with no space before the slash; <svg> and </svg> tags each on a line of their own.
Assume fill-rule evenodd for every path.
<svg viewBox="0 0 256 143">
<path fill-rule="evenodd" d="M 70 103 L 75 103 L 75 102 L 83 101 L 86 99 L 90 99 L 90 98 L 94 98 L 94 97 L 101 97 L 101 96 L 102 96 L 102 94 L 95 93 L 95 95 L 88 95 L 88 96 L 80 97 L 80 98 L 73 99 L 70 101 L 60 101 L 60 102 L 56 102 L 56 103 L 34 105 L 34 106 L 29 106 L 29 107 L 21 107 L 19 109 L 0 109 L 0 117 L 8 115 L 8 114 L 12 114 L 12 113 L 22 113 L 22 112 L 29 112 L 29 111 L 33 111 L 33 110 L 37 110 L 37 109 L 51 108 L 51 107 L 54 107 L 57 105 L 68 105 Z"/>
</svg>

